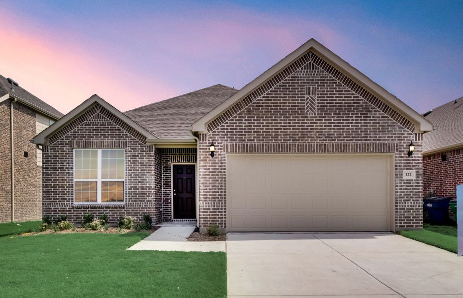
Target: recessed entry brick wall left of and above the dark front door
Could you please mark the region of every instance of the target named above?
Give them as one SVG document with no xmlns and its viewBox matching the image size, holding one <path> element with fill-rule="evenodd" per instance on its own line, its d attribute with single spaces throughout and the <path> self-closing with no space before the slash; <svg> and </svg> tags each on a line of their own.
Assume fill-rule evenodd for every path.
<svg viewBox="0 0 463 298">
<path fill-rule="evenodd" d="M 161 149 L 162 158 L 162 218 L 163 222 L 172 221 L 172 164 L 195 163 L 196 148 Z"/>
</svg>

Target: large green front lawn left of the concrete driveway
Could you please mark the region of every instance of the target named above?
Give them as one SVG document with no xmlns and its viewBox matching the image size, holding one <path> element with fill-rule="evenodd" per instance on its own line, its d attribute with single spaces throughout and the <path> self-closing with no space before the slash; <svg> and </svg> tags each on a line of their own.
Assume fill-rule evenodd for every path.
<svg viewBox="0 0 463 298">
<path fill-rule="evenodd" d="M 226 297 L 223 252 L 127 251 L 148 233 L 0 238 L 1 297 Z"/>
</svg>

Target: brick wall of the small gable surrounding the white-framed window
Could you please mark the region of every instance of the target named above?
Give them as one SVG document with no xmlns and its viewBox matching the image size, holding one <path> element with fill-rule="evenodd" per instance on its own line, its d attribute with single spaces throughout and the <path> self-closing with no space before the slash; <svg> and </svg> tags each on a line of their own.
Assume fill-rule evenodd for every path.
<svg viewBox="0 0 463 298">
<path fill-rule="evenodd" d="M 73 149 L 125 149 L 125 203 L 118 205 L 76 205 L 73 194 Z M 154 223 L 161 214 L 161 152 L 146 146 L 144 137 L 115 115 L 93 105 L 79 118 L 50 137 L 43 152 L 43 214 L 56 218 L 67 214 L 70 221 L 81 223 L 84 214 L 105 213 L 110 222 L 120 215 L 142 221 L 144 213 Z"/>
</svg>

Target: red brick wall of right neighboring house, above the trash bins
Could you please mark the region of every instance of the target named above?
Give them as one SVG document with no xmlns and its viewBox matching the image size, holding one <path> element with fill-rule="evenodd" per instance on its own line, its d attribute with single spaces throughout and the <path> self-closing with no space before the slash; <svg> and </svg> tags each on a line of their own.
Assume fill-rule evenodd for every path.
<svg viewBox="0 0 463 298">
<path fill-rule="evenodd" d="M 447 154 L 446 161 L 441 161 L 442 154 Z M 462 169 L 462 148 L 423 156 L 423 196 L 432 189 L 437 196 L 456 198 L 456 187 L 463 183 Z"/>
</svg>

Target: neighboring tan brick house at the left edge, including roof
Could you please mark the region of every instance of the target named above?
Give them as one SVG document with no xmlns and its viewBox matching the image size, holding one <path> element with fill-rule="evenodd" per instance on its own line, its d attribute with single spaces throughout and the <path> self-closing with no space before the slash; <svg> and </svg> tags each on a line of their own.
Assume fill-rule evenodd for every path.
<svg viewBox="0 0 463 298">
<path fill-rule="evenodd" d="M 0 115 L 0 223 L 40 219 L 42 151 L 30 140 L 63 114 L 0 75 Z"/>
</svg>

